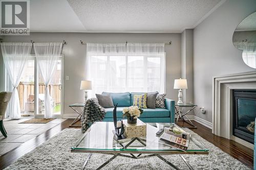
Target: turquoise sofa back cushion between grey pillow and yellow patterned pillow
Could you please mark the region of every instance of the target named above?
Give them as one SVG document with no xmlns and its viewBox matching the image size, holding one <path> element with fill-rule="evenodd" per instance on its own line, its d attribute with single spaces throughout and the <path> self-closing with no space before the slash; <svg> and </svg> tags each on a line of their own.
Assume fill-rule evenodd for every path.
<svg viewBox="0 0 256 170">
<path fill-rule="evenodd" d="M 110 95 L 113 101 L 114 106 L 118 104 L 118 107 L 129 107 L 131 105 L 131 94 L 130 92 L 124 93 L 110 93 L 102 92 L 103 95 Z"/>
</svg>

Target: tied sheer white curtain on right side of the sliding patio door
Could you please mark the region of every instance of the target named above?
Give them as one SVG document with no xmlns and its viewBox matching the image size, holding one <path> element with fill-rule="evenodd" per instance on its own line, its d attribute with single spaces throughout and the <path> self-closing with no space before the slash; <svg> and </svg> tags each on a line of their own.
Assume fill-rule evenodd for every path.
<svg viewBox="0 0 256 170">
<path fill-rule="evenodd" d="M 62 42 L 34 43 L 35 56 L 42 79 L 45 82 L 45 118 L 51 118 L 53 108 L 48 86 L 54 74 L 54 68 L 62 50 Z"/>
</svg>

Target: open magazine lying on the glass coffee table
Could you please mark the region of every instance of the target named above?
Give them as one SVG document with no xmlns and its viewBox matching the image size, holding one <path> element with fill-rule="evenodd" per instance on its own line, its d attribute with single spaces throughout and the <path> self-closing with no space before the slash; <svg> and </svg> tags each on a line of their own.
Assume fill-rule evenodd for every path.
<svg viewBox="0 0 256 170">
<path fill-rule="evenodd" d="M 188 148 L 190 133 L 185 132 L 177 125 L 173 125 L 169 128 L 165 127 L 164 132 L 159 139 L 170 147 L 186 151 Z"/>
</svg>

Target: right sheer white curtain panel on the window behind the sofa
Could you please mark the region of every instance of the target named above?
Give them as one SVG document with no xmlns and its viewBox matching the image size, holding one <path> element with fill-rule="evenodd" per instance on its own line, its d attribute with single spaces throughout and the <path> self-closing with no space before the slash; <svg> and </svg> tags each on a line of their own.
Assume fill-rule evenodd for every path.
<svg viewBox="0 0 256 170">
<path fill-rule="evenodd" d="M 126 53 L 128 59 L 126 81 L 133 82 L 132 86 L 127 86 L 129 90 L 164 93 L 166 73 L 164 43 L 127 43 Z"/>
</svg>

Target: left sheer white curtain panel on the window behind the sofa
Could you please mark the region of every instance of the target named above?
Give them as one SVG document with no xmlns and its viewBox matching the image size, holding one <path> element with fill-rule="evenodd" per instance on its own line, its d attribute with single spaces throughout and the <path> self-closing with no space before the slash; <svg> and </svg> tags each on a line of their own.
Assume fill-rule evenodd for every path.
<svg viewBox="0 0 256 170">
<path fill-rule="evenodd" d="M 125 56 L 126 43 L 87 43 L 87 79 L 93 84 L 89 95 L 124 86 L 118 67 L 125 66 Z"/>
</svg>

